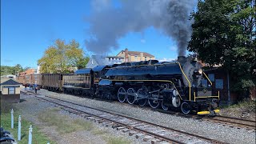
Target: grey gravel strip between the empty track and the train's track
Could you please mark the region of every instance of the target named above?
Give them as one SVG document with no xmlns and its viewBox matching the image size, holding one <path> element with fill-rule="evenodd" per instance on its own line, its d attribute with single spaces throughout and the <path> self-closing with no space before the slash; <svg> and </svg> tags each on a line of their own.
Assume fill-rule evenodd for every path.
<svg viewBox="0 0 256 144">
<path fill-rule="evenodd" d="M 91 98 L 79 98 L 70 94 L 58 94 L 43 89 L 38 90 L 38 93 L 42 95 L 54 96 L 56 98 L 63 98 L 70 102 L 77 102 L 85 106 L 91 106 L 103 110 L 110 110 L 117 114 L 127 115 L 133 118 L 145 120 L 147 122 L 154 122 L 162 126 L 168 126 L 170 128 L 183 130 L 192 134 L 202 135 L 207 138 L 213 138 L 222 142 L 255 143 L 255 131 L 253 130 L 222 126 L 221 124 L 205 122 L 193 118 L 182 118 L 150 109 L 144 109 L 139 106 L 130 106 L 126 103 L 123 104 L 119 102 L 104 102 Z M 118 130 L 114 130 L 114 133 L 117 132 Z M 129 138 L 132 138 L 133 143 L 138 142 L 138 140 L 134 139 L 134 137 Z"/>
</svg>

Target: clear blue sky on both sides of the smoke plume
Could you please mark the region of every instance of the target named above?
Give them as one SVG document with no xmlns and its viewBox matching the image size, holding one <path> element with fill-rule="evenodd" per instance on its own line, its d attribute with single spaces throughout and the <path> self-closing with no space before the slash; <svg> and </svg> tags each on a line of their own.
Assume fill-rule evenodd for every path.
<svg viewBox="0 0 256 144">
<path fill-rule="evenodd" d="M 85 21 L 90 16 L 89 0 L 1 0 L 1 66 L 36 67 L 44 51 L 57 38 L 75 39 L 85 51 Z M 130 33 L 118 40 L 116 55 L 128 48 L 145 51 L 158 59 L 177 58 L 175 42 L 149 27 L 143 33 Z M 92 54 L 87 51 L 87 54 Z"/>
</svg>

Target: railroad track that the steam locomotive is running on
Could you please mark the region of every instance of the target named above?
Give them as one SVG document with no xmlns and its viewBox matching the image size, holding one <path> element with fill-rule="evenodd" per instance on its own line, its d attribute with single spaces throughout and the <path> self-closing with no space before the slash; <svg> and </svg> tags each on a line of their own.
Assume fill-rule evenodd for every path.
<svg viewBox="0 0 256 144">
<path fill-rule="evenodd" d="M 24 93 L 34 94 L 34 91 L 26 90 Z M 130 105 L 130 104 L 127 104 L 127 105 Z M 134 106 L 134 105 L 130 105 L 130 106 Z M 231 118 L 231 117 L 225 117 L 221 115 L 216 115 L 214 117 L 207 117 L 207 116 L 194 115 L 194 114 L 182 114 L 180 112 L 174 112 L 170 110 L 169 111 L 158 110 L 158 109 L 151 109 L 151 110 L 157 110 L 162 113 L 174 114 L 174 115 L 185 117 L 185 118 L 195 118 L 195 119 L 200 119 L 206 122 L 214 122 L 214 123 L 222 124 L 223 126 L 236 127 L 238 129 L 245 128 L 246 130 L 254 130 L 254 131 L 256 130 L 256 121 L 246 120 L 242 118 Z"/>
</svg>

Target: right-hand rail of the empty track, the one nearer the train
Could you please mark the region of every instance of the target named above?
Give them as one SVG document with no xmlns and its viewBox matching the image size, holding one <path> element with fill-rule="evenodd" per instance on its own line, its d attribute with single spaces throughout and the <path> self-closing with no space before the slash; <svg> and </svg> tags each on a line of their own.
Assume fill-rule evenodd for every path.
<svg viewBox="0 0 256 144">
<path fill-rule="evenodd" d="M 47 96 L 47 95 L 46 95 L 46 97 L 48 97 L 48 98 L 53 98 L 53 97 L 50 97 L 50 96 Z M 59 99 L 59 98 L 53 98 L 53 99 L 57 99 L 57 100 L 62 101 L 62 102 L 68 102 L 68 101 L 65 101 L 65 100 L 62 100 L 62 99 Z M 132 120 L 137 121 L 137 122 L 144 122 L 144 123 L 149 124 L 149 125 L 151 125 L 151 126 L 158 126 L 158 127 L 161 127 L 162 129 L 172 130 L 172 131 L 175 131 L 175 132 L 178 132 L 178 133 L 190 135 L 190 136 L 193 136 L 193 137 L 195 137 L 195 138 L 200 138 L 200 139 L 203 139 L 203 140 L 206 140 L 206 141 L 210 141 L 210 142 L 214 142 L 214 143 L 226 143 L 226 142 L 221 142 L 221 141 L 218 141 L 218 140 L 214 140 L 214 139 L 212 139 L 212 138 L 206 138 L 206 137 L 203 137 L 203 136 L 200 136 L 200 135 L 190 134 L 190 133 L 185 132 L 185 131 L 182 131 L 182 130 L 172 129 L 172 128 L 167 127 L 167 126 L 161 126 L 161 125 L 158 125 L 158 124 L 155 124 L 155 123 L 152 123 L 152 122 L 142 121 L 142 120 L 137 119 L 137 118 L 131 118 L 131 117 L 128 117 L 128 116 L 126 116 L 126 115 L 115 114 L 115 113 L 110 112 L 110 111 L 101 110 L 101 109 L 97 109 L 97 108 L 90 107 L 90 106 L 84 106 L 84 105 L 81 105 L 81 104 L 78 104 L 78 103 L 74 103 L 74 102 L 68 102 L 68 103 L 71 103 L 71 104 L 74 104 L 74 105 L 77 105 L 77 106 L 82 106 L 82 107 L 90 108 L 90 109 L 93 109 L 93 110 L 100 110 L 100 111 L 105 112 L 105 113 L 108 113 L 108 114 L 118 115 L 118 116 L 120 116 L 120 117 L 132 119 Z"/>
</svg>

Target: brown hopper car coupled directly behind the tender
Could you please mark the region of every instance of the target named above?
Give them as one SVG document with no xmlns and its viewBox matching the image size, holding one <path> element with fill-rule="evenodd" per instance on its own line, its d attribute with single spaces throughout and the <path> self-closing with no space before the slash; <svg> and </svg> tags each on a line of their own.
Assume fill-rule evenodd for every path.
<svg viewBox="0 0 256 144">
<path fill-rule="evenodd" d="M 42 88 L 46 90 L 62 90 L 63 74 L 42 74 Z"/>
</svg>

